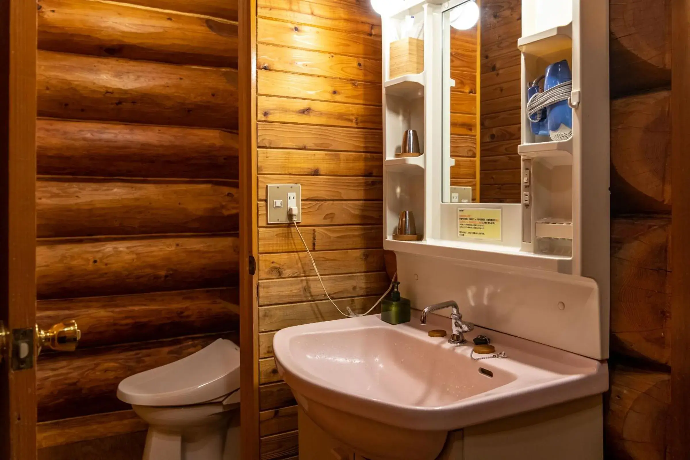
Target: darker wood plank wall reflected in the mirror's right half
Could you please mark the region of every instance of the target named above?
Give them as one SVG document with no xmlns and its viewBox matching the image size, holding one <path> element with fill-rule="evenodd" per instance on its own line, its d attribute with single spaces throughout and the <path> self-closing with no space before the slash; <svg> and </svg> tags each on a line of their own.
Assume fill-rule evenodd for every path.
<svg viewBox="0 0 690 460">
<path fill-rule="evenodd" d="M 520 202 L 520 0 L 482 0 L 480 197 Z"/>
</svg>

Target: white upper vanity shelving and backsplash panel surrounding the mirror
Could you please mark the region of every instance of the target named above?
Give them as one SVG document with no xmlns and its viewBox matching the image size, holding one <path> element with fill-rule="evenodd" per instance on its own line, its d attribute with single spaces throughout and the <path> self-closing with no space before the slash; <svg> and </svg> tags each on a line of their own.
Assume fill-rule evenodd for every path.
<svg viewBox="0 0 690 460">
<path fill-rule="evenodd" d="M 523 37 L 514 43 L 522 54 L 520 203 L 449 203 L 445 177 L 453 160 L 444 148 L 448 114 L 441 108 L 444 86 L 455 82 L 442 65 L 444 11 L 461 3 L 405 1 L 382 18 L 384 248 L 397 254 L 400 290 L 417 308 L 454 299 L 469 321 L 607 359 L 609 7 L 598 0 L 522 1 Z M 558 14 L 540 12 L 546 3 Z M 388 81 L 390 30 L 420 14 L 424 72 Z M 562 59 L 572 74 L 572 134 L 551 141 L 531 132 L 526 90 Z M 412 85 L 414 91 L 400 89 Z M 406 129 L 420 131 L 421 157 L 395 158 Z M 404 210 L 415 214 L 422 241 L 393 239 Z M 468 226 L 483 234 L 467 236 Z"/>
</svg>

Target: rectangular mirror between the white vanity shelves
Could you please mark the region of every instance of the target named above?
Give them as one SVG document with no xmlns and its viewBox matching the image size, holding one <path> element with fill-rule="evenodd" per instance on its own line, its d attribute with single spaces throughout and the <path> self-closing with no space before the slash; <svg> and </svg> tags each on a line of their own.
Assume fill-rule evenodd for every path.
<svg viewBox="0 0 690 460">
<path fill-rule="evenodd" d="M 520 7 L 493 14 L 492 1 L 443 12 L 444 203 L 520 203 L 520 50 L 501 32 L 519 33 Z"/>
</svg>

